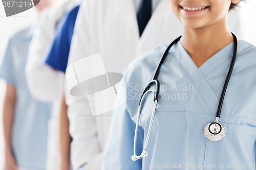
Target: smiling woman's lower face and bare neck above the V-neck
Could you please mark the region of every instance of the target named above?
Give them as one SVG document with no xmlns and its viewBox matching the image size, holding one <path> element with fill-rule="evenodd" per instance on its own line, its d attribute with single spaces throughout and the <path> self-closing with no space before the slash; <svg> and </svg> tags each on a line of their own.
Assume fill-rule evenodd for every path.
<svg viewBox="0 0 256 170">
<path fill-rule="evenodd" d="M 205 0 L 191 3 L 170 0 L 174 14 L 184 25 L 180 42 L 198 67 L 233 41 L 227 26 L 227 15 L 230 4 L 238 2 Z"/>
</svg>

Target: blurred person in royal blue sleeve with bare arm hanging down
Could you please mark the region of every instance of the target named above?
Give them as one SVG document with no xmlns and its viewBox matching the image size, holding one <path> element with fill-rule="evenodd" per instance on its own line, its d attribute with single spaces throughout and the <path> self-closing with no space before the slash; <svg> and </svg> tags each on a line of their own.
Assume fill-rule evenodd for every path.
<svg viewBox="0 0 256 170">
<path fill-rule="evenodd" d="M 52 67 L 52 69 L 59 70 L 63 73 L 66 72 L 68 57 L 70 51 L 71 40 L 73 36 L 73 30 L 79 6 L 67 12 L 61 18 L 58 29 L 56 30 L 56 36 L 52 43 L 51 50 L 47 56 L 46 64 Z M 54 70 L 53 70 L 54 71 Z M 47 83 L 47 82 L 45 82 Z M 60 165 L 61 170 L 70 169 L 70 143 L 71 136 L 69 133 L 69 119 L 67 115 L 68 106 L 65 101 L 65 96 L 62 97 L 60 107 Z"/>
</svg>

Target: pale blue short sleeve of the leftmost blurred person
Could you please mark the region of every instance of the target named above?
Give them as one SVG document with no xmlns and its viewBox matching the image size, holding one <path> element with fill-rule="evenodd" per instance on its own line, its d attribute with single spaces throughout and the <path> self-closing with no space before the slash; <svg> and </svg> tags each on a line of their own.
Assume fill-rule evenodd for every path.
<svg viewBox="0 0 256 170">
<path fill-rule="evenodd" d="M 6 50 L 0 59 L 0 78 L 7 81 L 8 84 L 15 85 L 14 82 L 14 71 L 13 71 L 13 61 L 12 61 L 12 40 L 8 41 Z"/>
</svg>

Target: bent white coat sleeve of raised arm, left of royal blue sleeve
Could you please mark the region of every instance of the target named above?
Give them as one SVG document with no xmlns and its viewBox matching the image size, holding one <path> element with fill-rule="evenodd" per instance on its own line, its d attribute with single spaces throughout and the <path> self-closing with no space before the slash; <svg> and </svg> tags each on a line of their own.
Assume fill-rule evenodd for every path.
<svg viewBox="0 0 256 170">
<path fill-rule="evenodd" d="M 45 58 L 55 37 L 58 21 L 65 12 L 79 5 L 79 2 L 80 0 L 69 1 L 40 14 L 39 27 L 35 30 L 30 45 L 26 77 L 32 95 L 41 101 L 51 102 L 62 96 L 63 74 L 45 64 Z"/>
</svg>

